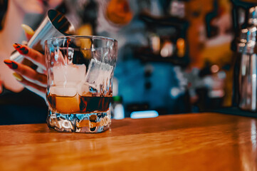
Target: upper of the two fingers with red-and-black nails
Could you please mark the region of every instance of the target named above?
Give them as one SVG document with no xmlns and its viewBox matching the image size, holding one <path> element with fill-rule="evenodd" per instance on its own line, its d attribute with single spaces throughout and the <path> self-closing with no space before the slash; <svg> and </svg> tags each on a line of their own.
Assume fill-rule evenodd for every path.
<svg viewBox="0 0 257 171">
<path fill-rule="evenodd" d="M 46 70 L 46 60 L 45 56 L 42 53 L 19 43 L 14 43 L 13 46 L 17 51 L 19 51 L 19 53 L 21 53 L 21 55 L 25 56 L 26 58 L 28 58 L 28 60 L 32 61 L 37 66 Z"/>
</svg>

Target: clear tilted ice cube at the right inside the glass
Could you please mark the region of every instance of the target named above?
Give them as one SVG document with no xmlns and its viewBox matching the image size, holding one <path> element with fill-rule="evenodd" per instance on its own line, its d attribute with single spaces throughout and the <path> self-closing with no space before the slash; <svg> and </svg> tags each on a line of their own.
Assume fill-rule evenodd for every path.
<svg viewBox="0 0 257 171">
<path fill-rule="evenodd" d="M 88 66 L 88 72 L 85 76 L 85 82 L 87 82 L 92 88 L 100 91 L 100 85 L 103 86 L 107 81 L 110 81 L 112 71 L 113 66 L 97 61 L 96 59 L 91 59 Z"/>
</svg>

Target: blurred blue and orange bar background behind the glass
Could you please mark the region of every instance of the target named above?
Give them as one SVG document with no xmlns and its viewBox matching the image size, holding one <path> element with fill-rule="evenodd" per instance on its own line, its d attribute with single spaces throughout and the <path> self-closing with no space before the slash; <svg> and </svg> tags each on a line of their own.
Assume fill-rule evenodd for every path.
<svg viewBox="0 0 257 171">
<path fill-rule="evenodd" d="M 112 117 L 122 119 L 236 106 L 236 38 L 251 6 L 257 2 L 66 0 L 58 9 L 77 34 L 117 39 Z"/>
</svg>

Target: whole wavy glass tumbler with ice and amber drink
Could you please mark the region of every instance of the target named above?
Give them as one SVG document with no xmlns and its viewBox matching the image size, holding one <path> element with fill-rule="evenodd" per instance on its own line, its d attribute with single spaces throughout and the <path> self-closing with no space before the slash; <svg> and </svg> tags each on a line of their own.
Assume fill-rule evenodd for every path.
<svg viewBox="0 0 257 171">
<path fill-rule="evenodd" d="M 78 133 L 107 130 L 117 41 L 101 36 L 51 38 L 45 55 L 48 127 Z"/>
</svg>

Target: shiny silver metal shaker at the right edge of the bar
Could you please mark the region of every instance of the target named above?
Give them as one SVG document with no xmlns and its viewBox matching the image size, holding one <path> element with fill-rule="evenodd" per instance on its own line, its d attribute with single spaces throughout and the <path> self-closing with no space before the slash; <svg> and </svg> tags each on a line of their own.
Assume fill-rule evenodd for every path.
<svg viewBox="0 0 257 171">
<path fill-rule="evenodd" d="M 248 10 L 246 28 L 241 29 L 238 53 L 240 66 L 238 73 L 238 107 L 242 110 L 257 110 L 257 6 Z"/>
</svg>

